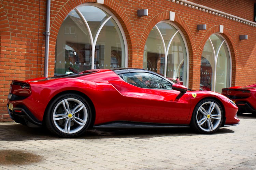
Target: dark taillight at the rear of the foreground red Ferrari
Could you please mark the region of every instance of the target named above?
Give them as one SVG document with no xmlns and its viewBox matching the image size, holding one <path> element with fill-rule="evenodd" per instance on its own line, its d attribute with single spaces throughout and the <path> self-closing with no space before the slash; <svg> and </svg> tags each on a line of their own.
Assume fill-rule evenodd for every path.
<svg viewBox="0 0 256 170">
<path fill-rule="evenodd" d="M 13 81 L 10 85 L 9 100 L 22 100 L 31 94 L 30 85 L 26 82 Z"/>
</svg>

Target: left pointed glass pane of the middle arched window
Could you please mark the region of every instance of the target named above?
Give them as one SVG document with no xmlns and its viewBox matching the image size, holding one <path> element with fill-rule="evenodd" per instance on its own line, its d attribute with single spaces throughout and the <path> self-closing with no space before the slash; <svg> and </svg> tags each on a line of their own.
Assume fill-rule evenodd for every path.
<svg viewBox="0 0 256 170">
<path fill-rule="evenodd" d="M 164 74 L 165 52 L 161 36 L 154 27 L 147 37 L 144 48 L 143 68 Z"/>
</svg>

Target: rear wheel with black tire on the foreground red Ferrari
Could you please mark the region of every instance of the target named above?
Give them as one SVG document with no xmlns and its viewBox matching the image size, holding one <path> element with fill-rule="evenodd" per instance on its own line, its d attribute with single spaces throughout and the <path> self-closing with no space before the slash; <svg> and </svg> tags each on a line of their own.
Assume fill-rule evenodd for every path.
<svg viewBox="0 0 256 170">
<path fill-rule="evenodd" d="M 45 125 L 55 135 L 76 137 L 87 130 L 91 117 L 91 108 L 84 98 L 77 94 L 65 94 L 49 105 Z"/>
</svg>

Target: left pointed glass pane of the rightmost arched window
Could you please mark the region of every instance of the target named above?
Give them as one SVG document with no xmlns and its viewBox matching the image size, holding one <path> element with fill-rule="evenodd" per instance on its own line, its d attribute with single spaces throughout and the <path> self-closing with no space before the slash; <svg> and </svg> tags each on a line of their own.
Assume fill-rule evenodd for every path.
<svg viewBox="0 0 256 170">
<path fill-rule="evenodd" d="M 200 88 L 203 90 L 212 90 L 214 58 L 212 45 L 208 39 L 204 45 L 201 58 Z"/>
</svg>

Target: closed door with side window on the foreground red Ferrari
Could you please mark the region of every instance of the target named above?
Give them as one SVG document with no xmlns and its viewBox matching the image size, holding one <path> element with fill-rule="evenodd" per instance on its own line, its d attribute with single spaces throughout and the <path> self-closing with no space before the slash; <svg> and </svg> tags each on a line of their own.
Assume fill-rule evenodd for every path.
<svg viewBox="0 0 256 170">
<path fill-rule="evenodd" d="M 163 77 L 149 72 L 120 74 L 121 94 L 126 97 L 131 121 L 188 124 L 190 97 L 172 90 L 172 84 Z"/>
</svg>

